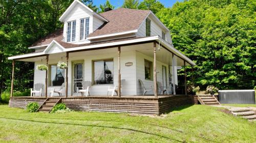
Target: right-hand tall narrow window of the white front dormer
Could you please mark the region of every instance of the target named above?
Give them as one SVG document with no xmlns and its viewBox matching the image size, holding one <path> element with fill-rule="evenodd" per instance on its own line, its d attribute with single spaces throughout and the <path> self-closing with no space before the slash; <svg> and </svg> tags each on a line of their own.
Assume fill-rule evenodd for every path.
<svg viewBox="0 0 256 143">
<path fill-rule="evenodd" d="M 84 40 L 89 36 L 90 18 L 80 19 L 80 40 Z"/>
</svg>

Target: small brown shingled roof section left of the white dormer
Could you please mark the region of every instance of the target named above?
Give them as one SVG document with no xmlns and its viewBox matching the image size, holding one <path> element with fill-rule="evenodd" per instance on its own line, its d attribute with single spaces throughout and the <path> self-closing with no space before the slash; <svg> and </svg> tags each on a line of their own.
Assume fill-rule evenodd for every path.
<svg viewBox="0 0 256 143">
<path fill-rule="evenodd" d="M 52 40 L 61 41 L 62 39 L 63 39 L 63 28 L 60 28 L 57 31 L 55 31 L 54 33 L 51 33 L 51 34 L 47 35 L 46 37 L 39 39 L 33 45 L 31 45 L 31 47 L 48 45 L 52 42 Z"/>
</svg>

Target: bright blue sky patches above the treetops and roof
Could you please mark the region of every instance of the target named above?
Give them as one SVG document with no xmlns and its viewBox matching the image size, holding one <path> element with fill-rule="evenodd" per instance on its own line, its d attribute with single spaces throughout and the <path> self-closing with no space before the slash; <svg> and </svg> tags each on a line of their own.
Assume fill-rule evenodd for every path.
<svg viewBox="0 0 256 143">
<path fill-rule="evenodd" d="M 110 0 L 110 3 L 115 6 L 115 8 L 121 7 L 124 0 Z M 142 0 L 139 0 L 140 2 Z M 165 7 L 172 7 L 177 1 L 181 0 L 159 0 L 162 4 L 164 4 Z M 98 6 L 100 4 L 104 4 L 106 0 L 94 0 L 93 4 Z"/>
</svg>

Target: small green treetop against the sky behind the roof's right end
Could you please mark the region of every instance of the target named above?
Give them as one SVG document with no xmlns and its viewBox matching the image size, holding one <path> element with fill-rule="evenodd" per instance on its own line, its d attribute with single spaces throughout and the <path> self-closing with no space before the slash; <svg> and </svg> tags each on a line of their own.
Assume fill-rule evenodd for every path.
<svg viewBox="0 0 256 143">
<path fill-rule="evenodd" d="M 140 10 L 151 10 L 155 14 L 163 8 L 164 5 L 157 0 L 144 0 L 138 6 L 138 9 Z"/>
</svg>

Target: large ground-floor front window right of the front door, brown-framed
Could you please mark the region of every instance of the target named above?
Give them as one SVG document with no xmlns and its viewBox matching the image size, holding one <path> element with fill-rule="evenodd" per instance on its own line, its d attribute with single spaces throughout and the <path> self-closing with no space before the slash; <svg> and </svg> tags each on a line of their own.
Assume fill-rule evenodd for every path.
<svg viewBox="0 0 256 143">
<path fill-rule="evenodd" d="M 113 84 L 113 59 L 94 61 L 94 84 Z"/>
</svg>

